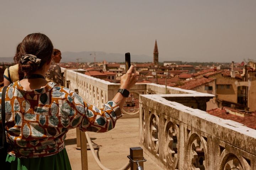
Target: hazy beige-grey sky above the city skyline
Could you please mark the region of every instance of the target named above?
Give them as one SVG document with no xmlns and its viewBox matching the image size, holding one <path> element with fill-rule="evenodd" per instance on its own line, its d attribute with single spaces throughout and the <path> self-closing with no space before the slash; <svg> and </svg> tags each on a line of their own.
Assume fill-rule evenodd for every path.
<svg viewBox="0 0 256 170">
<path fill-rule="evenodd" d="M 30 33 L 61 51 L 105 51 L 159 60 L 256 59 L 256 0 L 0 0 L 0 57 Z"/>
</svg>

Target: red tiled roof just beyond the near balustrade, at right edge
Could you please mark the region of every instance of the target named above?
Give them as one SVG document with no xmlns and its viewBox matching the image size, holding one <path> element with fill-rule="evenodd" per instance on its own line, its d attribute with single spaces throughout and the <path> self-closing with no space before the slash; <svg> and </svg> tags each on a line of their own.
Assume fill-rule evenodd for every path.
<svg viewBox="0 0 256 170">
<path fill-rule="evenodd" d="M 256 129 L 256 116 L 255 113 L 252 113 L 251 115 L 246 115 L 245 117 L 240 117 L 237 115 L 226 113 L 224 109 L 213 109 L 207 111 L 209 114 L 217 116 L 222 119 L 230 119 L 239 123 L 244 124 L 245 126 Z"/>
</svg>

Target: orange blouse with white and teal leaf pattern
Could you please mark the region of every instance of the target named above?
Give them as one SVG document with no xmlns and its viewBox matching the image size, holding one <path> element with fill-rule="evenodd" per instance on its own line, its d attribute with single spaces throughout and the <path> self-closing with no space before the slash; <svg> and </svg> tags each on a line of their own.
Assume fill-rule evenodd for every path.
<svg viewBox="0 0 256 170">
<path fill-rule="evenodd" d="M 23 158 L 44 157 L 62 151 L 70 128 L 106 132 L 113 129 L 122 116 L 113 101 L 98 109 L 85 103 L 75 92 L 53 82 L 42 89 L 25 90 L 16 81 L 7 88 L 5 100 L 8 153 Z"/>
</svg>

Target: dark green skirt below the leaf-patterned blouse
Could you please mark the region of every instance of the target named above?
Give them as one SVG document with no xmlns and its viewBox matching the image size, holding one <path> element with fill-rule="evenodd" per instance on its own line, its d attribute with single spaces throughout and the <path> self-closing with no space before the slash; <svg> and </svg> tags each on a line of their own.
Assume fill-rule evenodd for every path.
<svg viewBox="0 0 256 170">
<path fill-rule="evenodd" d="M 6 165 L 7 170 L 71 170 L 65 148 L 55 155 L 41 158 L 16 158 L 7 154 Z"/>
</svg>

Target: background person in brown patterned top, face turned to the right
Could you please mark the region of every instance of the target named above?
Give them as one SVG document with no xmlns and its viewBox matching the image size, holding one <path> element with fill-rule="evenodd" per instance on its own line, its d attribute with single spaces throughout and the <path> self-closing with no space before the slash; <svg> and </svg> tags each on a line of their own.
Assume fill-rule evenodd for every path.
<svg viewBox="0 0 256 170">
<path fill-rule="evenodd" d="M 48 81 L 53 81 L 54 83 L 63 86 L 63 75 L 61 73 L 60 66 L 58 63 L 62 59 L 61 52 L 58 49 L 54 49 L 53 56 L 52 56 L 52 62 L 49 68 L 49 71 L 46 74 L 46 79 Z"/>
</svg>

